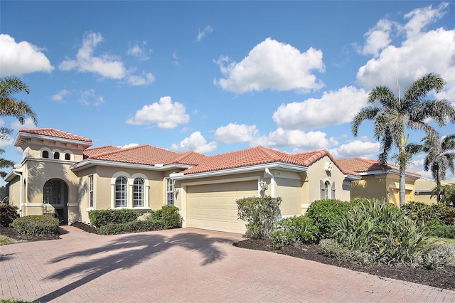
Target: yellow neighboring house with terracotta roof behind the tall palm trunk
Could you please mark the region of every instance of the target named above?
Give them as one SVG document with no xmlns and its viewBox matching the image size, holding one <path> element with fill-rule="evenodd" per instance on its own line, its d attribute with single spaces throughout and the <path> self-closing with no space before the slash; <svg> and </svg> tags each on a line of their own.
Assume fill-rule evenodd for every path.
<svg viewBox="0 0 455 303">
<path fill-rule="evenodd" d="M 338 160 L 338 164 L 344 169 L 355 171 L 362 177 L 361 180 L 353 181 L 350 188 L 350 196 L 353 198 L 385 198 L 387 202 L 400 205 L 400 169 L 388 164 L 382 170 L 379 161 L 349 158 Z M 419 173 L 406 171 L 405 201 L 414 201 L 414 182 L 420 178 Z"/>
</svg>

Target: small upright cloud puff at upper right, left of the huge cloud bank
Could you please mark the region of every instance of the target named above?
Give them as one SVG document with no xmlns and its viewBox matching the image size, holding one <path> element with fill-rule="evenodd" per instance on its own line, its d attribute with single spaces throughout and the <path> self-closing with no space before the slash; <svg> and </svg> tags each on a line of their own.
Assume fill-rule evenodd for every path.
<svg viewBox="0 0 455 303">
<path fill-rule="evenodd" d="M 390 31 L 392 31 L 391 21 L 387 19 L 378 21 L 374 28 L 370 28 L 370 31 L 365 33 L 366 42 L 362 53 L 378 56 L 380 50 L 386 48 L 391 41 Z"/>
</svg>

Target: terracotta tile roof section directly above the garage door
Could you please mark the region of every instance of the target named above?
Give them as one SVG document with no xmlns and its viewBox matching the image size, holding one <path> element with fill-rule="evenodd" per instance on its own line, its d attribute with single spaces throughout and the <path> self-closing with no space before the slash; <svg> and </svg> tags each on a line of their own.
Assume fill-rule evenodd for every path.
<svg viewBox="0 0 455 303">
<path fill-rule="evenodd" d="M 319 151 L 309 151 L 301 154 L 287 154 L 277 149 L 267 147 L 252 147 L 240 151 L 230 151 L 225 154 L 215 156 L 206 156 L 198 165 L 186 169 L 183 174 L 196 174 L 207 171 L 217 171 L 223 169 L 235 169 L 244 166 L 253 166 L 257 164 L 267 164 L 282 162 L 300 166 L 310 166 L 323 156 L 330 156 L 326 149 Z M 331 157 L 331 156 L 330 156 Z M 353 172 L 354 175 L 358 175 Z"/>
</svg>

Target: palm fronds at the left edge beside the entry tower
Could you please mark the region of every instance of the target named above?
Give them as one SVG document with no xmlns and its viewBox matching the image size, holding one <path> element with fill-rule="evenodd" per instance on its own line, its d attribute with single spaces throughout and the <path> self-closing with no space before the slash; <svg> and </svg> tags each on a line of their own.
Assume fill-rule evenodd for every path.
<svg viewBox="0 0 455 303">
<path fill-rule="evenodd" d="M 18 92 L 28 94 L 28 87 L 17 77 L 0 78 L 0 116 L 16 117 L 23 124 L 27 117 L 36 125 L 36 113 L 23 101 L 16 100 L 12 95 Z M 12 129 L 0 127 L 0 140 L 8 139 Z"/>
</svg>

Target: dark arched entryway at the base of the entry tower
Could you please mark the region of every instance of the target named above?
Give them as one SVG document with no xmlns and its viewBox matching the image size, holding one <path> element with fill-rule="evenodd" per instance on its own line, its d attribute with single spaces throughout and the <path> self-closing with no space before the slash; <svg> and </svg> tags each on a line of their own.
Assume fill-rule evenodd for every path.
<svg viewBox="0 0 455 303">
<path fill-rule="evenodd" d="M 62 179 L 50 179 L 43 186 L 43 203 L 55 208 L 60 224 L 68 224 L 68 185 Z"/>
</svg>

